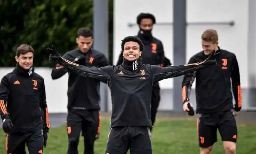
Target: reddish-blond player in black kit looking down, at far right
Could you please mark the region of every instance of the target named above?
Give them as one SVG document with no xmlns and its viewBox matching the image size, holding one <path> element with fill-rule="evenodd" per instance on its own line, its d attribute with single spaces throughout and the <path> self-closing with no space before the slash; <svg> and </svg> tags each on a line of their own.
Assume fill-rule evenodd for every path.
<svg viewBox="0 0 256 154">
<path fill-rule="evenodd" d="M 192 84 L 196 78 L 196 113 L 198 117 L 198 139 L 201 154 L 211 154 L 220 132 L 226 154 L 235 154 L 237 126 L 235 116 L 242 107 L 240 73 L 235 54 L 218 46 L 216 30 L 207 29 L 202 36 L 203 51 L 195 54 L 189 63 L 196 63 L 213 54 L 217 65 L 188 73 L 182 83 L 183 110 L 188 104 Z M 230 79 L 232 81 L 230 81 Z M 232 87 L 231 87 L 232 85 Z M 235 106 L 233 106 L 233 94 Z M 234 112 L 232 110 L 235 110 Z"/>
</svg>

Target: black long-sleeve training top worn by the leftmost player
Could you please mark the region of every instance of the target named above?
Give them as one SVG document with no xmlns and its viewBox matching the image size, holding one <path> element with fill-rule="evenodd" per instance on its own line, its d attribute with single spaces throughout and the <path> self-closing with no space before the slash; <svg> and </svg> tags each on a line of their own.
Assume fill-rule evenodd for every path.
<svg viewBox="0 0 256 154">
<path fill-rule="evenodd" d="M 2 120 L 11 119 L 12 132 L 49 129 L 43 77 L 33 69 L 24 71 L 17 65 L 1 80 L 0 109 Z"/>
</svg>

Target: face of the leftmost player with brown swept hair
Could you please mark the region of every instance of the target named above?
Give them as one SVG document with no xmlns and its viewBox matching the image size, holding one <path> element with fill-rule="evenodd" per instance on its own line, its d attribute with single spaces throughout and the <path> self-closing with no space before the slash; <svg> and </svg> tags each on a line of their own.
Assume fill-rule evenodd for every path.
<svg viewBox="0 0 256 154">
<path fill-rule="evenodd" d="M 32 52 L 27 52 L 25 54 L 20 54 L 20 56 L 15 56 L 15 60 L 19 65 L 28 70 L 33 65 L 34 54 Z"/>
</svg>

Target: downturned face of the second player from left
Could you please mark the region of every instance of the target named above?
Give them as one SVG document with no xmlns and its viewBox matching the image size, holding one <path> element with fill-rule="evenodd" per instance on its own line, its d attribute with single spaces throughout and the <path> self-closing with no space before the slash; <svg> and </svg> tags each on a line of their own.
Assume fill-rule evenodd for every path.
<svg viewBox="0 0 256 154">
<path fill-rule="evenodd" d="M 79 50 L 83 53 L 86 53 L 91 49 L 93 39 L 92 37 L 79 36 L 76 38 L 76 43 L 78 44 Z"/>
</svg>

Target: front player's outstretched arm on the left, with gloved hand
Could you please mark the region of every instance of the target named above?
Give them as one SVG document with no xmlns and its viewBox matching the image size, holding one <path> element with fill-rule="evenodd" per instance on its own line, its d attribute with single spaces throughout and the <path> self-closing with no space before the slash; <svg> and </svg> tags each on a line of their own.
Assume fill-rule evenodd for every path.
<svg viewBox="0 0 256 154">
<path fill-rule="evenodd" d="M 57 52 L 57 50 L 52 47 L 52 48 L 47 48 L 52 52 L 50 55 L 50 60 L 51 61 L 57 61 L 58 64 L 72 70 L 73 72 L 76 72 L 77 74 L 84 76 L 84 77 L 91 77 L 91 78 L 97 78 L 97 79 L 102 79 L 106 80 L 110 78 L 111 73 L 112 73 L 112 66 L 106 66 L 106 67 L 101 67 L 101 68 L 96 68 L 96 67 L 85 67 L 83 65 L 79 65 L 76 63 L 73 63 L 63 57 L 60 56 L 60 54 Z"/>
</svg>

